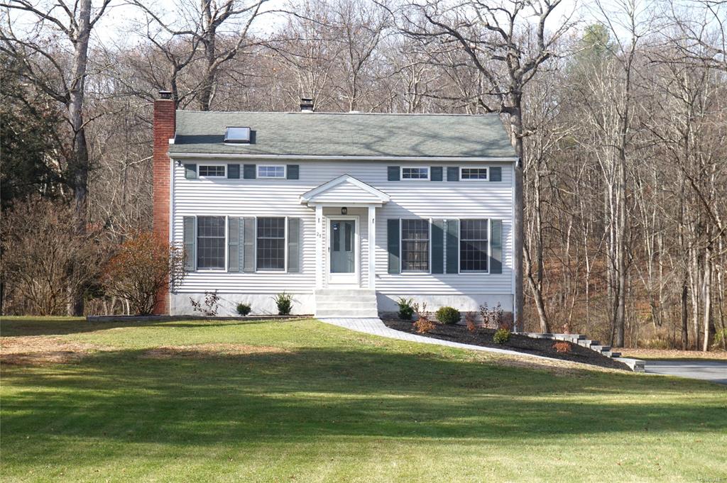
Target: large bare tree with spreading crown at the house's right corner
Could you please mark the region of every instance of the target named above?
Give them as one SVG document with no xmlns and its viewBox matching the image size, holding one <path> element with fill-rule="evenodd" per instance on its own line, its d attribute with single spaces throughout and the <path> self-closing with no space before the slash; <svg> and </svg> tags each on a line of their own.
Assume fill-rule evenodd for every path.
<svg viewBox="0 0 727 483">
<path fill-rule="evenodd" d="M 523 328 L 523 156 L 527 136 L 523 126 L 523 92 L 542 64 L 553 56 L 553 45 L 570 26 L 553 12 L 561 0 L 463 1 L 454 7 L 428 0 L 405 11 L 403 31 L 434 49 L 456 44 L 466 54 L 484 82 L 478 102 L 488 112 L 502 113 L 520 161 L 515 163 L 515 219 L 513 232 L 515 270 L 515 320 Z"/>
</svg>

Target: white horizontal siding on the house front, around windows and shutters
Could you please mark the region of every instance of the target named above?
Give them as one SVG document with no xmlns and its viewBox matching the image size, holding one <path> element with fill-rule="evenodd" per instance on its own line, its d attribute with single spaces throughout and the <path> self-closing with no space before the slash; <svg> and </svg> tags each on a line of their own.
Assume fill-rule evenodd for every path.
<svg viewBox="0 0 727 483">
<path fill-rule="evenodd" d="M 185 160 L 184 163 L 194 163 Z M 197 161 L 204 164 L 204 161 Z M 229 161 L 233 162 L 233 161 Z M 238 162 L 238 161 L 234 161 Z M 244 164 L 244 161 L 239 161 Z M 392 161 L 295 161 L 300 163 L 300 179 L 281 183 L 278 179 L 185 179 L 184 166 L 172 163 L 174 192 L 172 193 L 172 240 L 182 243 L 183 216 L 241 216 L 300 218 L 300 272 L 190 272 L 180 293 L 311 293 L 316 285 L 316 212 L 300 203 L 300 195 L 331 179 L 349 174 L 390 195 L 390 202 L 376 211 L 376 290 L 389 296 L 407 294 L 457 295 L 512 293 L 513 250 L 513 174 L 511 163 L 502 166 L 502 182 L 482 183 L 462 180 L 456 183 L 421 182 L 409 180 L 390 182 L 387 166 Z M 211 163 L 210 163 L 211 164 Z M 396 163 L 406 166 L 406 163 Z M 411 163 L 409 166 L 422 166 Z M 465 163 L 436 163 L 443 166 L 465 166 Z M 481 162 L 474 165 L 482 166 Z M 337 189 L 337 188 L 336 188 Z M 342 187 L 347 190 L 348 187 Z M 352 196 L 348 215 L 359 216 L 359 257 L 361 286 L 368 283 L 368 233 L 366 204 Z M 340 208 L 324 208 L 324 215 L 340 214 Z M 387 270 L 387 219 L 502 219 L 502 274 L 389 274 Z M 325 259 L 324 254 L 324 263 Z M 446 266 L 446 261 L 445 261 Z"/>
</svg>

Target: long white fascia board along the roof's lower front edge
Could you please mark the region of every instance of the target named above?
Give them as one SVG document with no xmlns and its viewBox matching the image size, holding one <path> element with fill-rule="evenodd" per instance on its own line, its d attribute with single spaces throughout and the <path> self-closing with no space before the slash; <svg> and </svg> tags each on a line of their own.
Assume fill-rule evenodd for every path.
<svg viewBox="0 0 727 483">
<path fill-rule="evenodd" d="M 180 159 L 260 159 L 260 160 L 303 160 L 303 161 L 407 161 L 422 163 L 431 161 L 443 163 L 446 161 L 473 161 L 473 162 L 490 162 L 490 163 L 515 163 L 518 161 L 517 156 L 321 156 L 321 155 L 278 155 L 278 154 L 250 154 L 250 153 L 169 153 L 170 158 Z"/>
</svg>

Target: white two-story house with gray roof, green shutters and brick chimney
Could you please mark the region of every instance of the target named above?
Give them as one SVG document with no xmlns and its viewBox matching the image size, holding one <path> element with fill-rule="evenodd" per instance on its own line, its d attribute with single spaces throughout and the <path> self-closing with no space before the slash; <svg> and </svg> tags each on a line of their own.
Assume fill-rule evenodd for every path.
<svg viewBox="0 0 727 483">
<path fill-rule="evenodd" d="M 498 115 L 177 110 L 154 105 L 154 230 L 206 291 L 276 313 L 376 317 L 400 297 L 513 309 L 513 167 Z"/>
</svg>

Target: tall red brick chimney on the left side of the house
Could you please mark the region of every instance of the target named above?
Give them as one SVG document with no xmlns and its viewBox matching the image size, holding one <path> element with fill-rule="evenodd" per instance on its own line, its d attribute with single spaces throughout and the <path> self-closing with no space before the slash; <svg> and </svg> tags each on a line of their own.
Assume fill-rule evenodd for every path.
<svg viewBox="0 0 727 483">
<path fill-rule="evenodd" d="M 160 98 L 154 101 L 153 123 L 153 232 L 160 240 L 169 240 L 169 139 L 174 138 L 177 129 L 177 106 L 172 93 L 160 91 Z M 169 313 L 169 293 L 159 294 L 154 307 L 155 314 Z"/>
</svg>

